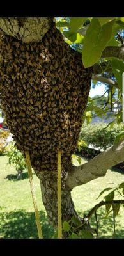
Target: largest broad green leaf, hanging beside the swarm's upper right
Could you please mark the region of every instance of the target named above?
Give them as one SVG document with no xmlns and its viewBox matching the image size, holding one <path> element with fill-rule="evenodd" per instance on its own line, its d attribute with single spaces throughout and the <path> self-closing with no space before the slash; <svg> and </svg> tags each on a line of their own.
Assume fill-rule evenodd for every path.
<svg viewBox="0 0 124 256">
<path fill-rule="evenodd" d="M 97 18 L 93 17 L 84 38 L 82 47 L 82 63 L 85 68 L 95 64 L 101 57 L 109 40 L 111 40 L 114 20 L 100 26 Z"/>
</svg>

